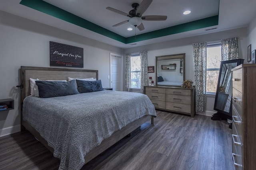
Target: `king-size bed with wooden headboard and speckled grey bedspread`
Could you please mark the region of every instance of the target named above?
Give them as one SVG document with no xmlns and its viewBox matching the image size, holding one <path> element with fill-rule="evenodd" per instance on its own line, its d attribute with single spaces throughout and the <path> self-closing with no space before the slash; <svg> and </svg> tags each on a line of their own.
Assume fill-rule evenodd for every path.
<svg viewBox="0 0 256 170">
<path fill-rule="evenodd" d="M 98 70 L 21 66 L 20 72 L 22 130 L 30 131 L 60 158 L 59 169 L 80 169 L 146 121 L 154 124 L 156 112 L 144 94 L 101 90 L 52 98 L 30 96 L 30 78 L 98 80 Z"/>
</svg>

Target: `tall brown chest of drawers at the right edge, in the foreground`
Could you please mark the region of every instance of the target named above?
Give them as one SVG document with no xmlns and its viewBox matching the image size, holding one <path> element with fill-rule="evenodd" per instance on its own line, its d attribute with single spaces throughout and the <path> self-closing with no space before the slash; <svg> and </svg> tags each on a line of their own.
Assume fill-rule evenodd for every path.
<svg viewBox="0 0 256 170">
<path fill-rule="evenodd" d="M 236 170 L 256 169 L 256 64 L 232 69 L 232 156 Z"/>
</svg>

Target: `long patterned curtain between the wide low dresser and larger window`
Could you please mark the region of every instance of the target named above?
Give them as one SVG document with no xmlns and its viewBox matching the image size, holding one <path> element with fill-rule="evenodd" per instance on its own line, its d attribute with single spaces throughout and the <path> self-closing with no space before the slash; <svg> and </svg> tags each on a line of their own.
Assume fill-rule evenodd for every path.
<svg viewBox="0 0 256 170">
<path fill-rule="evenodd" d="M 206 42 L 193 44 L 196 111 L 199 112 L 204 112 L 206 108 L 206 47 Z"/>
</svg>

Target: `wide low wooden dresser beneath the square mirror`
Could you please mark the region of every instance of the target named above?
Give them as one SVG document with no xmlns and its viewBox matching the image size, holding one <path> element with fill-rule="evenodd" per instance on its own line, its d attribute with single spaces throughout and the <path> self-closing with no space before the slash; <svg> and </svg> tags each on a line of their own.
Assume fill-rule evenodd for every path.
<svg viewBox="0 0 256 170">
<path fill-rule="evenodd" d="M 194 117 L 195 89 L 176 86 L 144 86 L 144 92 L 156 109 Z"/>
</svg>

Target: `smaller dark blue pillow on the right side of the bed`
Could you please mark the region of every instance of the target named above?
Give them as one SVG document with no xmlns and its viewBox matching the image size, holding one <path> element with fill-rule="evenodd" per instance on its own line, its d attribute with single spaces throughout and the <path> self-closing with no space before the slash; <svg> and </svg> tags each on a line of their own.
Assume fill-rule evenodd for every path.
<svg viewBox="0 0 256 170">
<path fill-rule="evenodd" d="M 76 84 L 79 93 L 97 92 L 104 90 L 101 85 L 101 80 L 86 81 L 76 79 Z"/>
</svg>

